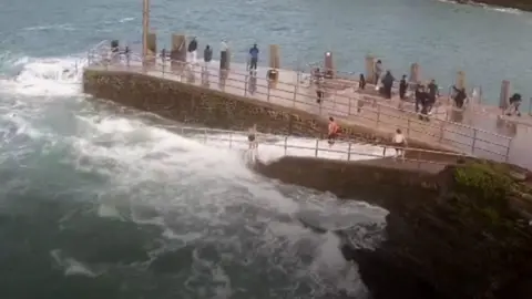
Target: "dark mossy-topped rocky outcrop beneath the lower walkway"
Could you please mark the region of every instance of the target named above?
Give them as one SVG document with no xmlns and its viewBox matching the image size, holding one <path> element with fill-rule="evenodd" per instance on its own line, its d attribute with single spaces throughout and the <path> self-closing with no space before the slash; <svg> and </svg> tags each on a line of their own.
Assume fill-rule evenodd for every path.
<svg viewBox="0 0 532 299">
<path fill-rule="evenodd" d="M 297 157 L 287 159 L 297 168 Z M 524 169 L 485 161 L 439 173 L 321 164 L 328 171 L 310 173 L 305 158 L 299 175 L 283 173 L 280 164 L 257 171 L 340 197 L 364 196 L 390 212 L 379 248 L 342 248 L 376 299 L 532 298 L 532 179 Z"/>
</svg>

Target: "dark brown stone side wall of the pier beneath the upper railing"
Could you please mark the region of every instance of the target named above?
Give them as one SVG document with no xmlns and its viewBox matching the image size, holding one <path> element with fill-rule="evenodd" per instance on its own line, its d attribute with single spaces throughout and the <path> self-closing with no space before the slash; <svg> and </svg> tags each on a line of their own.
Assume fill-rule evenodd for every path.
<svg viewBox="0 0 532 299">
<path fill-rule="evenodd" d="M 256 124 L 263 133 L 307 137 L 324 137 L 327 133 L 328 122 L 324 116 L 141 73 L 86 69 L 83 89 L 95 97 L 185 124 L 235 131 Z M 365 142 L 383 142 L 391 137 L 377 130 L 339 124 L 342 137 Z M 415 141 L 410 141 L 410 146 L 441 150 Z"/>
</svg>

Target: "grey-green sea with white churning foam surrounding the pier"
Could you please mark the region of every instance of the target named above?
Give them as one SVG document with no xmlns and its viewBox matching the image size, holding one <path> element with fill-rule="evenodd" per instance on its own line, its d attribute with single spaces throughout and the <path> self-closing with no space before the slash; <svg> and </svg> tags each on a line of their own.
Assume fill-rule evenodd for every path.
<svg viewBox="0 0 532 299">
<path fill-rule="evenodd" d="M 377 246 L 386 210 L 262 178 L 238 151 L 82 95 L 86 51 L 105 39 L 137 44 L 142 1 L 0 7 L 0 298 L 368 297 L 338 245 Z M 197 35 L 201 49 L 225 38 L 243 60 L 250 43 L 278 43 L 294 68 L 330 50 L 348 72 L 372 53 L 397 74 L 419 62 L 441 84 L 464 70 L 493 99 L 502 79 L 532 96 L 530 13 L 430 0 L 152 8 L 161 47 L 171 32 Z"/>
</svg>

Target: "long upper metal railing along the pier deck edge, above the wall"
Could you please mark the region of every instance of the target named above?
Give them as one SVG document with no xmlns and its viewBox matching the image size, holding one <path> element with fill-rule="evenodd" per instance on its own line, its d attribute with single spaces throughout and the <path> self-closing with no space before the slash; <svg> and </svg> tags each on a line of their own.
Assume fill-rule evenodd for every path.
<svg viewBox="0 0 532 299">
<path fill-rule="evenodd" d="M 303 110 L 320 116 L 336 116 L 347 122 L 367 127 L 381 127 L 386 131 L 401 128 L 407 136 L 427 143 L 439 144 L 450 151 L 461 151 L 473 155 L 508 161 L 510 137 L 488 132 L 478 127 L 463 125 L 432 117 L 430 122 L 418 120 L 419 114 L 399 107 L 378 103 L 378 97 L 367 97 L 351 91 L 341 94 L 338 91 L 327 91 L 329 99 L 323 104 L 316 103 L 314 90 L 299 84 L 303 73 L 291 72 L 293 82 L 270 81 L 266 75 L 253 75 L 247 72 L 221 71 L 207 65 L 192 65 L 167 59 L 153 59 L 142 62 L 139 55 L 131 53 L 129 58 L 101 60 L 101 55 L 92 58 L 89 54 L 90 66 L 103 66 L 106 70 L 139 72 L 187 84 L 194 84 L 235 95 L 246 96 L 283 106 Z M 114 62 L 113 62 L 114 61 Z M 146 64 L 151 66 L 145 66 Z M 232 63 L 234 64 L 234 63 Z M 95 66 L 94 66 L 95 65 Z M 244 69 L 243 66 L 239 66 Z M 280 71 L 290 73 L 290 71 Z M 196 75 L 201 80 L 196 80 Z"/>
</svg>

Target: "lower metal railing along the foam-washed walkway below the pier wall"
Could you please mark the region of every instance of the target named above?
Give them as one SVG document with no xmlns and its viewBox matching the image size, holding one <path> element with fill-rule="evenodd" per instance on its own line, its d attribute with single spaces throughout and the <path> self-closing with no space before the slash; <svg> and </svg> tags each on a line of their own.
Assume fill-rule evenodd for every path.
<svg viewBox="0 0 532 299">
<path fill-rule="evenodd" d="M 226 142 L 227 147 L 234 148 L 237 144 L 244 145 L 244 148 L 247 148 L 249 142 L 247 141 L 248 132 L 243 131 L 229 131 L 229 130 L 218 130 L 218 128 L 208 128 L 208 127 L 177 127 L 177 132 L 181 135 L 197 140 L 204 144 L 208 144 L 209 142 Z M 415 148 L 415 147 L 398 147 L 392 145 L 382 145 L 382 144 L 362 144 L 362 143 L 354 143 L 354 142 L 336 142 L 334 146 L 329 147 L 321 146 L 325 140 L 319 138 L 296 138 L 293 136 L 283 136 L 283 135 L 272 135 L 272 134 L 264 134 L 264 133 L 256 133 L 258 148 L 263 146 L 273 146 L 283 148 L 284 152 L 279 156 L 290 156 L 288 150 L 297 150 L 297 151 L 308 151 L 311 152 L 310 155 L 304 156 L 313 156 L 313 157 L 324 157 L 320 155 L 321 153 L 332 153 L 332 154 L 344 154 L 341 157 L 342 161 L 360 161 L 360 159 L 352 159 L 354 156 L 364 156 L 367 159 L 370 158 L 385 158 L 390 157 L 391 154 L 396 153 L 396 148 L 403 150 L 407 153 L 408 157 L 399 158 L 397 162 L 410 162 L 412 165 L 416 165 L 416 168 L 419 169 L 423 166 L 423 164 L 430 165 L 440 165 L 446 166 L 450 164 L 457 164 L 462 158 L 471 157 L 464 154 L 457 154 L 450 152 L 442 152 L 442 151 L 430 151 L 423 148 Z M 303 146 L 300 145 L 304 141 L 311 142 L 314 146 Z M 216 144 L 219 145 L 219 144 Z M 375 153 L 368 153 L 365 151 L 357 151 L 357 145 L 370 145 L 378 148 L 379 154 L 377 151 Z M 342 147 L 342 148 L 339 148 Z M 259 150 L 260 151 L 260 150 Z M 430 155 L 430 156 L 438 156 L 438 159 L 423 159 L 422 155 Z M 416 156 L 416 157 L 411 157 Z M 330 158 L 330 157 L 328 157 Z M 339 159 L 339 158 L 338 158 Z"/>
</svg>

